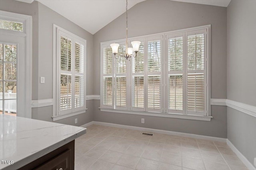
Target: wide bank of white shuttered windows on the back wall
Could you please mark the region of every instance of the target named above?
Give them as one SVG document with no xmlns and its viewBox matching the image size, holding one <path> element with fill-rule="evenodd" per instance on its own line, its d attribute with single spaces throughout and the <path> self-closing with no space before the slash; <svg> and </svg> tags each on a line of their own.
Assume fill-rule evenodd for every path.
<svg viewBox="0 0 256 170">
<path fill-rule="evenodd" d="M 130 61 L 101 43 L 101 110 L 209 120 L 209 32 L 206 25 L 129 39 L 141 41 Z"/>
</svg>

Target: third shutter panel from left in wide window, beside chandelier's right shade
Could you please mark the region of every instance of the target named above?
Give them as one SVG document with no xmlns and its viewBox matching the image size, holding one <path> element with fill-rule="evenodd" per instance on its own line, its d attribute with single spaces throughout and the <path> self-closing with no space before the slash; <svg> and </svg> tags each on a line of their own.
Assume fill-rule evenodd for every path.
<svg viewBox="0 0 256 170">
<path fill-rule="evenodd" d="M 144 42 L 140 40 L 137 57 L 131 58 L 132 77 L 132 110 L 145 111 L 144 95 Z M 135 55 L 135 54 L 134 54 Z"/>
</svg>

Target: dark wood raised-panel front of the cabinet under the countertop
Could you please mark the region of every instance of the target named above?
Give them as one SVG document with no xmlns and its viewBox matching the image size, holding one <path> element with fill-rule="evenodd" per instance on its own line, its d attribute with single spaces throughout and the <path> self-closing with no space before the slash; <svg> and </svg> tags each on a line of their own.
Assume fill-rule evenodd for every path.
<svg viewBox="0 0 256 170">
<path fill-rule="evenodd" d="M 34 170 L 71 170 L 71 149 L 62 152 Z"/>
</svg>

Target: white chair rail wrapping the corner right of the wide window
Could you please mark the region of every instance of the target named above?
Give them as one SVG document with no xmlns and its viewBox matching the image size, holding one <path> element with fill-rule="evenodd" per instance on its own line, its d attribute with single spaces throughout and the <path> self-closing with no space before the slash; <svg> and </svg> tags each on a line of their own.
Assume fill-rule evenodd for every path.
<svg viewBox="0 0 256 170">
<path fill-rule="evenodd" d="M 256 117 L 256 106 L 236 102 L 229 99 L 211 99 L 211 105 L 216 106 L 228 106 L 253 117 Z"/>
</svg>

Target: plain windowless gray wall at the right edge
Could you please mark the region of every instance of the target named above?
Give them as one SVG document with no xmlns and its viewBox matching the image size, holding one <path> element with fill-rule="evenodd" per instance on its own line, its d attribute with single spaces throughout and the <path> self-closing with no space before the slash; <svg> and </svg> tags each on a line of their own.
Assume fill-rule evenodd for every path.
<svg viewBox="0 0 256 170">
<path fill-rule="evenodd" d="M 227 8 L 227 96 L 256 106 L 256 1 L 232 0 Z M 228 107 L 228 139 L 253 164 L 256 117 Z"/>
</svg>

